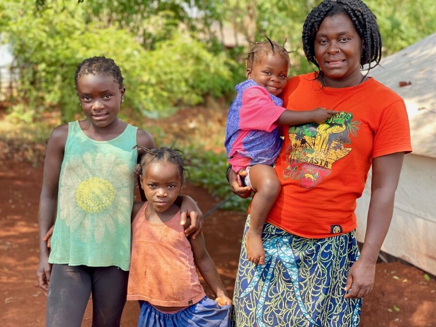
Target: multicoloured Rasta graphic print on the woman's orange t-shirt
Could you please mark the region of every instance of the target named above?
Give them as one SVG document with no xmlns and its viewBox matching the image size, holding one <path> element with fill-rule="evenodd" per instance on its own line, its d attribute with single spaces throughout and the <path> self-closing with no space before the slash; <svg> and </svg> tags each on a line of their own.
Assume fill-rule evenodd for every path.
<svg viewBox="0 0 436 327">
<path fill-rule="evenodd" d="M 353 114 L 342 111 L 326 123 L 290 126 L 289 145 L 286 148 L 288 166 L 283 170 L 286 178 L 300 180 L 304 188 L 315 187 L 331 173 L 333 164 L 351 152 L 350 135 L 357 136 L 358 121 Z"/>
</svg>

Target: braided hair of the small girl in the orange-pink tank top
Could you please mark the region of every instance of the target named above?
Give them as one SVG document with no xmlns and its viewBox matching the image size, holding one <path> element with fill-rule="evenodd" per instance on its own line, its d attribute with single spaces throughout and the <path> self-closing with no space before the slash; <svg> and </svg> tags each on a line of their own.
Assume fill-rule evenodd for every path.
<svg viewBox="0 0 436 327">
<path fill-rule="evenodd" d="M 180 181 L 183 183 L 184 178 L 184 162 L 182 159 L 182 153 L 179 150 L 160 147 L 160 148 L 144 148 L 140 145 L 133 147 L 138 150 L 143 150 L 145 153 L 141 156 L 140 163 L 135 166 L 133 170 L 136 177 L 140 176 L 142 181 L 142 175 L 147 171 L 146 166 L 151 163 L 169 163 L 177 168 Z"/>
</svg>

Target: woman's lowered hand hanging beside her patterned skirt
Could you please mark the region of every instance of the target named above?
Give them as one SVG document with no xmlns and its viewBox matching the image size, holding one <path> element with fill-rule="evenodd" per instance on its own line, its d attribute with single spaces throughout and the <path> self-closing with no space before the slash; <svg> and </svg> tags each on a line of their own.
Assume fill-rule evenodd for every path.
<svg viewBox="0 0 436 327">
<path fill-rule="evenodd" d="M 367 296 L 374 286 L 375 262 L 360 257 L 350 268 L 345 284 L 345 298 Z M 349 292 L 348 292 L 349 291 Z"/>
</svg>

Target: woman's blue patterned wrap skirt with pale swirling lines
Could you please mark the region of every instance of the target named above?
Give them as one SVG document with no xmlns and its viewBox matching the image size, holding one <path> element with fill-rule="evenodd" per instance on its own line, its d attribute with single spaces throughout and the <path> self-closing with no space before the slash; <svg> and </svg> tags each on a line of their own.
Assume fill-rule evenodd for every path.
<svg viewBox="0 0 436 327">
<path fill-rule="evenodd" d="M 361 299 L 345 299 L 348 269 L 358 259 L 354 232 L 311 239 L 265 223 L 265 265 L 247 258 L 245 226 L 234 289 L 232 326 L 356 327 Z"/>
</svg>

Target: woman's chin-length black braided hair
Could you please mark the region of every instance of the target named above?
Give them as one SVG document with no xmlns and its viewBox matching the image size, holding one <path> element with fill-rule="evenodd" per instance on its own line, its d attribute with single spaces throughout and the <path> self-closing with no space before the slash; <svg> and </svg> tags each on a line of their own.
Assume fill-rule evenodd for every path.
<svg viewBox="0 0 436 327">
<path fill-rule="evenodd" d="M 304 22 L 302 35 L 303 49 L 307 60 L 319 68 L 314 50 L 316 32 L 324 18 L 340 14 L 345 14 L 351 19 L 363 40 L 362 57 L 360 58 L 361 68 L 367 63 L 370 64 L 369 69 L 374 68 L 381 59 L 381 35 L 375 15 L 361 0 L 324 0 L 312 9 Z M 371 62 L 375 62 L 372 67 Z"/>
</svg>

